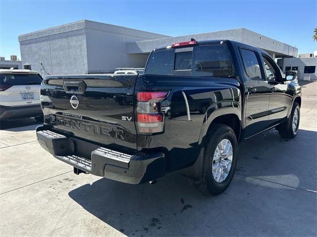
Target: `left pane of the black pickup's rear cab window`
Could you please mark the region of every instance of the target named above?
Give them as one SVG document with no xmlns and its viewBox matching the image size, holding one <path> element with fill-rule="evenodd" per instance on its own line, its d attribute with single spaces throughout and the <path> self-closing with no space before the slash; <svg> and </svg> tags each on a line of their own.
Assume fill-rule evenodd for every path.
<svg viewBox="0 0 317 237">
<path fill-rule="evenodd" d="M 174 49 L 164 49 L 151 53 L 146 74 L 173 75 L 174 54 Z"/>
</svg>

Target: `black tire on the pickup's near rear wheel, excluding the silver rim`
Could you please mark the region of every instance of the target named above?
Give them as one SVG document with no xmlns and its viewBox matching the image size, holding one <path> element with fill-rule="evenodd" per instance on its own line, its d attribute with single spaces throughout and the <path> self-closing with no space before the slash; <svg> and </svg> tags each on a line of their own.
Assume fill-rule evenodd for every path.
<svg viewBox="0 0 317 237">
<path fill-rule="evenodd" d="M 192 186 L 201 191 L 203 194 L 218 195 L 226 190 L 233 178 L 237 165 L 238 141 L 234 131 L 224 124 L 213 124 L 209 132 L 207 143 L 205 145 L 205 154 L 202 167 L 202 177 L 200 179 L 190 179 Z M 233 150 L 233 158 L 228 176 L 223 182 L 217 183 L 212 175 L 212 159 L 214 152 L 219 144 L 224 139 L 231 142 Z"/>
</svg>

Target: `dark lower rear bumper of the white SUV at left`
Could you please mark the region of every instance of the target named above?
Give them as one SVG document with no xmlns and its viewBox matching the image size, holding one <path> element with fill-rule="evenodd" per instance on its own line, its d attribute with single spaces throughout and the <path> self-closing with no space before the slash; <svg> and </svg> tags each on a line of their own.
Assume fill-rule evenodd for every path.
<svg viewBox="0 0 317 237">
<path fill-rule="evenodd" d="M 0 119 L 19 119 L 43 116 L 41 104 L 25 106 L 0 105 Z"/>
</svg>

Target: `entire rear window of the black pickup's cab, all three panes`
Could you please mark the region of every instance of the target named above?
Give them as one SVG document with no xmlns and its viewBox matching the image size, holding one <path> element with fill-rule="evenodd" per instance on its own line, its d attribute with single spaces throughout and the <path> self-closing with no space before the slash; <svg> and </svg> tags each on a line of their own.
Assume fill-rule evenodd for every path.
<svg viewBox="0 0 317 237">
<path fill-rule="evenodd" d="M 154 51 L 148 60 L 146 74 L 186 76 L 231 76 L 232 66 L 226 47 L 203 45 Z M 190 50 L 191 49 L 191 50 Z M 183 73 L 186 71 L 186 73 Z"/>
</svg>

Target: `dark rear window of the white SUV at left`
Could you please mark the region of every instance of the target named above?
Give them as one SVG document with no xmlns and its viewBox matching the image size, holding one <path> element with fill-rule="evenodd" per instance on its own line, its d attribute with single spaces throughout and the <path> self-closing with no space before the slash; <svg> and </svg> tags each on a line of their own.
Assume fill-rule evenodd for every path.
<svg viewBox="0 0 317 237">
<path fill-rule="evenodd" d="M 42 78 L 38 74 L 0 74 L 0 84 L 10 86 L 41 85 Z"/>
</svg>

